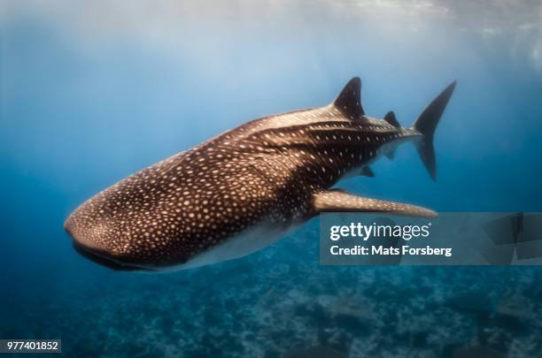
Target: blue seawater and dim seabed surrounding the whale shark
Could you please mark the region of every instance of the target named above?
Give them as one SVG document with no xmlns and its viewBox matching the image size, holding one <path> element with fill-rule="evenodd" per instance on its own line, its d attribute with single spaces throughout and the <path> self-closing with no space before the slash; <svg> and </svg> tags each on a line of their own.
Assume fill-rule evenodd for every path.
<svg viewBox="0 0 542 358">
<path fill-rule="evenodd" d="M 436 182 L 405 145 L 339 187 L 542 211 L 539 2 L 0 0 L 0 35 L 1 339 L 81 357 L 542 356 L 540 267 L 321 266 L 316 217 L 241 259 L 142 274 L 85 260 L 62 227 L 128 174 L 326 105 L 353 76 L 368 115 L 403 126 L 458 85 Z"/>
</svg>

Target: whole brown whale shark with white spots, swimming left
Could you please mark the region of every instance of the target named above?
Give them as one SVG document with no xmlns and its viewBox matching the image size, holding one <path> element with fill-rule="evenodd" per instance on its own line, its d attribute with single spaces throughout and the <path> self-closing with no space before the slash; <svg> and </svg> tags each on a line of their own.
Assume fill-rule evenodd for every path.
<svg viewBox="0 0 542 358">
<path fill-rule="evenodd" d="M 83 202 L 64 227 L 77 252 L 96 263 L 172 270 L 251 254 L 321 212 L 436 217 L 335 186 L 374 176 L 370 164 L 406 141 L 435 179 L 434 133 L 454 88 L 455 81 L 402 127 L 392 111 L 365 114 L 355 77 L 326 106 L 252 120 L 120 180 Z"/>
</svg>

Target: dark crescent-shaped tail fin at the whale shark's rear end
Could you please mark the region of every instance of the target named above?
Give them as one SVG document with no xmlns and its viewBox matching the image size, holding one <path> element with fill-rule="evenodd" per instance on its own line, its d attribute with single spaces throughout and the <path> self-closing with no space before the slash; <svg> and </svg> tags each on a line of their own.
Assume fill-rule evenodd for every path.
<svg viewBox="0 0 542 358">
<path fill-rule="evenodd" d="M 440 95 L 422 111 L 422 114 L 414 122 L 414 129 L 423 134 L 423 139 L 418 143 L 418 153 L 422 158 L 431 179 L 437 179 L 437 162 L 435 160 L 435 149 L 433 148 L 433 135 L 437 128 L 438 120 L 446 108 L 446 104 L 453 94 L 455 81 L 452 82 Z"/>
</svg>

